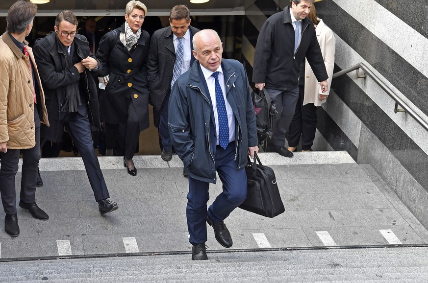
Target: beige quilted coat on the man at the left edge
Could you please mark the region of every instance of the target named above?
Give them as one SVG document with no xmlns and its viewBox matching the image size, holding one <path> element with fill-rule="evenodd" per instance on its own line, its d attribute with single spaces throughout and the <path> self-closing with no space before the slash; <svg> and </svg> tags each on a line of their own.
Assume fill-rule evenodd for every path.
<svg viewBox="0 0 428 283">
<path fill-rule="evenodd" d="M 32 49 L 26 47 L 40 86 L 40 121 L 49 126 L 42 82 Z M 7 142 L 7 148 L 25 149 L 36 144 L 33 93 L 29 61 L 6 31 L 0 37 L 0 142 Z"/>
</svg>

